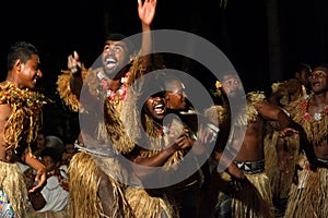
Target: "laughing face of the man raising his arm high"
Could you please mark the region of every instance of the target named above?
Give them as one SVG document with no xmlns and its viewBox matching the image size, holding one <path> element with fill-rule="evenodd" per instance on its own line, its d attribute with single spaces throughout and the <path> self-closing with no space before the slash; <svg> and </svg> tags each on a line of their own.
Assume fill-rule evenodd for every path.
<svg viewBox="0 0 328 218">
<path fill-rule="evenodd" d="M 102 61 L 107 76 L 114 77 L 129 63 L 131 57 L 128 53 L 127 45 L 121 40 L 107 40 L 105 43 Z"/>
</svg>

